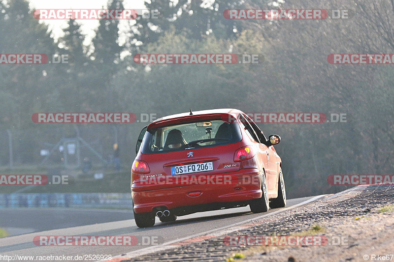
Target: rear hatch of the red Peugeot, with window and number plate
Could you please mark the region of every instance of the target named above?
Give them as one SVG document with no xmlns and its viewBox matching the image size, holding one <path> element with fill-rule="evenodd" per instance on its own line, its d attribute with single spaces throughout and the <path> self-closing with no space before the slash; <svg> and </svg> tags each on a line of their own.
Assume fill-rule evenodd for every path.
<svg viewBox="0 0 394 262">
<path fill-rule="evenodd" d="M 240 148 L 241 133 L 237 123 L 224 119 L 229 116 L 189 116 L 148 126 L 139 160 L 150 172 L 134 175 L 133 191 L 237 179 L 233 173 L 240 163 L 234 162 L 234 153 Z"/>
</svg>

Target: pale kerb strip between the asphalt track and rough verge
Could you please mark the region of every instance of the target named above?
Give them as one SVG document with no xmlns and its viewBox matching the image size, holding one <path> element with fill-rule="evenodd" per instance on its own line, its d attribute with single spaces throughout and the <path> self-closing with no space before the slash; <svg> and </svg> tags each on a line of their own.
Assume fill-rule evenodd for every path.
<svg viewBox="0 0 394 262">
<path fill-rule="evenodd" d="M 293 205 L 293 206 L 289 206 L 289 207 L 285 207 L 285 208 L 281 208 L 280 210 L 271 212 L 269 214 L 263 214 L 261 216 L 254 217 L 254 218 L 251 218 L 251 219 L 248 219 L 248 220 L 245 220 L 245 221 L 237 222 L 237 223 L 234 223 L 234 224 L 231 224 L 231 225 L 227 225 L 225 227 L 221 227 L 221 228 L 218 228 L 218 229 L 213 229 L 213 230 L 205 231 L 205 232 L 202 232 L 202 233 L 197 233 L 197 234 L 194 234 L 194 235 L 183 237 L 183 238 L 180 238 L 180 239 L 168 241 L 168 242 L 165 242 L 165 243 L 163 243 L 161 245 L 158 245 L 158 246 L 151 246 L 151 247 L 143 248 L 141 250 L 132 251 L 132 252 L 129 252 L 129 253 L 126 253 L 126 254 L 117 255 L 117 256 L 113 257 L 112 260 L 108 260 L 107 262 L 120 262 L 120 261 L 124 261 L 124 260 L 130 260 L 130 259 L 135 258 L 135 257 L 144 256 L 144 255 L 148 255 L 148 254 L 151 254 L 151 253 L 164 251 L 164 250 L 171 249 L 171 248 L 174 248 L 174 247 L 177 247 L 177 246 L 187 245 L 187 244 L 194 243 L 194 242 L 197 242 L 197 241 L 202 241 L 202 240 L 205 240 L 205 239 L 209 239 L 209 238 L 221 236 L 221 235 L 224 235 L 224 234 L 228 234 L 228 233 L 240 230 L 240 229 L 253 227 L 253 226 L 256 226 L 256 224 L 258 224 L 258 223 L 256 223 L 257 221 L 261 220 L 264 217 L 276 215 L 276 214 L 279 214 L 279 213 L 282 213 L 282 212 L 285 212 L 285 211 L 297 208 L 299 206 L 318 201 L 318 200 L 323 199 L 323 198 L 324 198 L 325 201 L 327 201 L 327 200 L 331 200 L 331 199 L 340 197 L 340 196 L 342 196 L 344 194 L 349 194 L 349 193 L 351 193 L 353 191 L 359 191 L 359 192 L 355 192 L 355 193 L 359 194 L 360 192 L 365 190 L 365 188 L 367 186 L 368 185 L 359 185 L 359 186 L 356 186 L 356 187 L 349 188 L 349 189 L 346 189 L 344 191 L 338 192 L 338 193 L 333 194 L 333 195 L 325 194 L 325 195 L 315 196 L 315 197 L 313 197 L 311 199 L 308 199 L 308 200 L 306 200 L 306 201 L 304 201 L 302 203 L 299 203 L 299 204 L 296 204 L 296 205 Z"/>
</svg>

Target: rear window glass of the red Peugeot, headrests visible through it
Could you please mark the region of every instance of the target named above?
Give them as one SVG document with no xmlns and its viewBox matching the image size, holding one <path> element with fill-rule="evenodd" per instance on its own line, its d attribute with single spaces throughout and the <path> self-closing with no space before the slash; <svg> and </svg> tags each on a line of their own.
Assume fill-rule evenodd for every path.
<svg viewBox="0 0 394 262">
<path fill-rule="evenodd" d="M 161 126 L 145 133 L 142 153 L 155 154 L 191 148 L 229 145 L 241 141 L 238 123 L 212 119 Z"/>
</svg>

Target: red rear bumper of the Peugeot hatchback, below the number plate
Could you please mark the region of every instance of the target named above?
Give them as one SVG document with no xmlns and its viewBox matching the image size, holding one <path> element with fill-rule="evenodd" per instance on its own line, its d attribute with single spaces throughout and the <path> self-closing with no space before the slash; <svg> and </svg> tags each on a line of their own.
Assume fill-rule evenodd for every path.
<svg viewBox="0 0 394 262">
<path fill-rule="evenodd" d="M 238 173 L 247 174 L 243 179 L 234 179 L 223 183 L 196 184 L 147 191 L 131 191 L 135 213 L 156 211 L 155 209 L 182 210 L 182 207 L 220 203 L 243 203 L 260 198 L 261 175 L 258 169 L 244 169 Z M 191 192 L 201 192 L 198 196 L 189 196 Z M 216 204 L 215 204 L 216 203 Z M 225 205 L 224 205 L 225 206 Z M 190 209 L 190 208 L 189 208 Z M 214 210 L 215 208 L 212 208 Z M 196 210 L 201 211 L 201 210 Z M 187 212 L 193 213 L 193 212 Z"/>
</svg>

